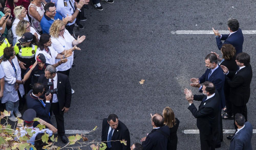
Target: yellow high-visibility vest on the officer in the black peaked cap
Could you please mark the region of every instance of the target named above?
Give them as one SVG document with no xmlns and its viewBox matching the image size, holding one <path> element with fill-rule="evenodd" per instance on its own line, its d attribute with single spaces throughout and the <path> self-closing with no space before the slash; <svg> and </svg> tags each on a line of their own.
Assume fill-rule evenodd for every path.
<svg viewBox="0 0 256 150">
<path fill-rule="evenodd" d="M 16 43 L 14 46 L 14 51 L 16 55 L 20 58 L 33 58 L 35 57 L 37 45 L 36 44 L 30 44 L 29 47 L 23 47 L 20 43 Z"/>
</svg>

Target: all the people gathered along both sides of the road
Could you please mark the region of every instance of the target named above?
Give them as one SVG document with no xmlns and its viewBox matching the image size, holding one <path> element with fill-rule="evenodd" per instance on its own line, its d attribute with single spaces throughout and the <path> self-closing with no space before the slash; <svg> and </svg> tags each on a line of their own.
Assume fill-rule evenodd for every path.
<svg viewBox="0 0 256 150">
<path fill-rule="evenodd" d="M 113 3 L 113 0 L 102 0 Z M 50 135 L 58 133 L 64 143 L 65 135 L 63 114 L 69 110 L 71 88 L 69 74 L 74 60 L 74 51 L 81 50 L 78 45 L 85 36 L 74 38 L 74 27 L 83 29 L 81 21 L 86 20 L 84 9 L 89 0 L 7 0 L 0 12 L 0 98 L 7 111 L 8 119 L 16 122 L 23 116 L 26 128 L 45 124 L 46 130 L 33 128 L 36 134 L 31 144 L 40 139 L 41 132 Z M 92 1 L 93 6 L 103 10 L 99 0 Z M 4 5 L 4 6 L 3 6 Z M 243 34 L 238 20 L 228 20 L 230 34 L 221 35 L 213 29 L 217 46 L 222 58 L 216 52 L 205 57 L 207 70 L 200 78 L 191 78 L 191 87 L 197 87 L 202 95 L 193 95 L 184 90 L 189 102 L 188 109 L 197 118 L 200 132 L 201 149 L 215 149 L 223 141 L 222 119 L 233 119 L 236 132 L 227 138 L 231 140 L 230 149 L 238 146 L 251 148 L 252 126 L 247 121 L 246 103 L 250 98 L 252 69 L 250 56 L 242 52 Z M 225 40 L 223 43 L 221 40 Z M 219 63 L 218 63 L 219 61 Z M 197 109 L 193 100 L 201 101 Z M 22 115 L 27 103 L 28 110 Z M 222 110 L 225 113 L 222 114 Z M 51 124 L 55 115 L 57 129 Z M 33 121 L 39 117 L 40 121 Z M 109 115 L 102 123 L 102 142 L 107 149 L 161 150 L 177 149 L 177 130 L 179 120 L 170 107 L 162 114 L 151 115 L 153 130 L 141 138 L 140 143 L 131 147 L 130 133 L 124 123 L 115 114 Z M 23 128 L 17 129 L 21 136 Z M 124 145 L 116 140 L 125 140 Z"/>
</svg>

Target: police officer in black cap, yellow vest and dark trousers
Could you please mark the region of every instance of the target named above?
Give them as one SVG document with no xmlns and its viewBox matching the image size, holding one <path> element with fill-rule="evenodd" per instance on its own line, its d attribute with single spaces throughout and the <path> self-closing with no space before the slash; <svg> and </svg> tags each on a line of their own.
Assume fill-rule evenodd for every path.
<svg viewBox="0 0 256 150">
<path fill-rule="evenodd" d="M 30 32 L 26 32 L 18 40 L 19 43 L 16 43 L 14 46 L 14 51 L 16 53 L 19 66 L 21 68 L 21 78 L 24 78 L 24 73 L 26 72 L 29 66 L 35 63 L 35 53 L 37 49 L 37 38 Z M 29 84 L 31 81 L 27 81 L 24 84 L 25 93 L 31 89 Z M 19 110 L 23 110 L 25 104 L 25 98 L 20 97 L 19 101 Z"/>
</svg>

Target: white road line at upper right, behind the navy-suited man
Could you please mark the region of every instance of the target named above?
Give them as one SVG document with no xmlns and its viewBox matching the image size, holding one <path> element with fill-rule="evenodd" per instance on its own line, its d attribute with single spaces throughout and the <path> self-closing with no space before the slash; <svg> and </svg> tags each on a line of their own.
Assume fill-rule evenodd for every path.
<svg viewBox="0 0 256 150">
<path fill-rule="evenodd" d="M 242 30 L 243 34 L 256 34 L 256 30 Z M 172 34 L 214 34 L 212 30 L 177 30 Z M 229 34 L 228 30 L 220 30 L 220 34 Z"/>
</svg>

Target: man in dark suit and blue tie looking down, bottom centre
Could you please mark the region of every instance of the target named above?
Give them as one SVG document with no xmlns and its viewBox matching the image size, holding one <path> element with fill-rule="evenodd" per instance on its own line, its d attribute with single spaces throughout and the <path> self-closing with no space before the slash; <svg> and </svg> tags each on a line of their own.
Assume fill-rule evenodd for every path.
<svg viewBox="0 0 256 150">
<path fill-rule="evenodd" d="M 125 140 L 126 145 L 116 140 Z M 107 145 L 106 149 L 130 150 L 130 132 L 125 124 L 118 120 L 116 114 L 110 114 L 108 118 L 103 119 L 101 141 Z"/>
</svg>

